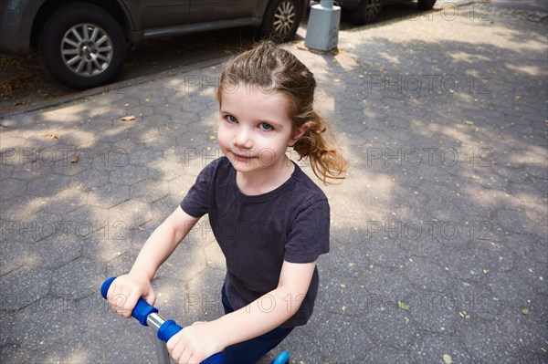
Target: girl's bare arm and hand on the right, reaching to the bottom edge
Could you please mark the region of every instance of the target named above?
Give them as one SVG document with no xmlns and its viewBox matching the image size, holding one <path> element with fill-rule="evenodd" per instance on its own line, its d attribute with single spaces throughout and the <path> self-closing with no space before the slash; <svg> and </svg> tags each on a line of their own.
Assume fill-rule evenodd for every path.
<svg viewBox="0 0 548 364">
<path fill-rule="evenodd" d="M 172 357 L 179 363 L 201 362 L 230 345 L 278 328 L 299 309 L 315 266 L 316 262 L 284 262 L 276 289 L 215 321 L 184 328 L 167 343 Z"/>
</svg>

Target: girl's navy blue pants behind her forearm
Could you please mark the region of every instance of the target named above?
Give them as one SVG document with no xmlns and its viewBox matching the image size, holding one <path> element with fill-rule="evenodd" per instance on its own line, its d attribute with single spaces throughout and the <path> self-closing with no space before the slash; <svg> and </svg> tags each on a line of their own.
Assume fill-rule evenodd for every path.
<svg viewBox="0 0 548 364">
<path fill-rule="evenodd" d="M 225 313 L 234 312 L 228 302 L 225 286 L 222 291 L 223 307 Z M 278 344 L 290 335 L 293 328 L 274 328 L 257 338 L 251 338 L 247 341 L 231 345 L 223 351 L 227 364 L 254 364 L 265 356 L 271 349 L 276 348 Z"/>
</svg>

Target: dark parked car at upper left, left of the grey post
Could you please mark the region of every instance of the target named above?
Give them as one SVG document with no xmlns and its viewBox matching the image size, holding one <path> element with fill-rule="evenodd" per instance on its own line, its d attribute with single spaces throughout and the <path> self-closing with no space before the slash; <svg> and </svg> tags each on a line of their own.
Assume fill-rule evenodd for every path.
<svg viewBox="0 0 548 364">
<path fill-rule="evenodd" d="M 256 26 L 295 36 L 306 0 L 4 0 L 0 53 L 38 51 L 47 70 L 70 88 L 115 78 L 128 45 L 157 36 Z"/>
</svg>

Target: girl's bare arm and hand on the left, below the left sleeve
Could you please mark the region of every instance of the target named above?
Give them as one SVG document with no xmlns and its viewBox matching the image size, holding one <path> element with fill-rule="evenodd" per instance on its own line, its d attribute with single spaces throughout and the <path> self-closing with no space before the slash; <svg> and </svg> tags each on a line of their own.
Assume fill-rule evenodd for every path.
<svg viewBox="0 0 548 364">
<path fill-rule="evenodd" d="M 199 218 L 184 213 L 179 206 L 154 230 L 142 245 L 130 273 L 116 278 L 109 289 L 109 303 L 119 315 L 131 317 L 133 307 L 140 297 L 150 305 L 154 304 L 156 296 L 151 281 L 156 270 L 174 252 L 198 220 Z"/>
</svg>

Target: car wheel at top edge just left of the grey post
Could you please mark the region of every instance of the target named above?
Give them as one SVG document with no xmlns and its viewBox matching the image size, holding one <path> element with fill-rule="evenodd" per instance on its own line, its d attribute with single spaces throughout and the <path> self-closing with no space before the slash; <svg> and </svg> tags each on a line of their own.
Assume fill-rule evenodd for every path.
<svg viewBox="0 0 548 364">
<path fill-rule="evenodd" d="M 286 42 L 297 33 L 301 18 L 300 0 L 272 0 L 265 12 L 261 31 L 273 40 Z"/>
</svg>

